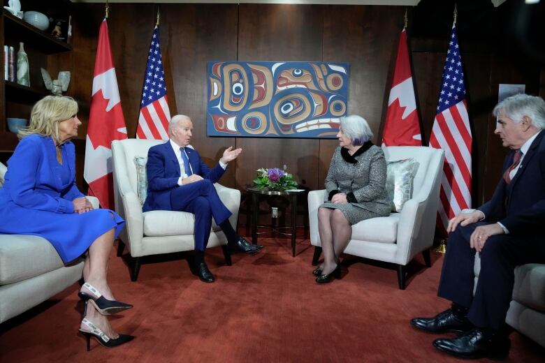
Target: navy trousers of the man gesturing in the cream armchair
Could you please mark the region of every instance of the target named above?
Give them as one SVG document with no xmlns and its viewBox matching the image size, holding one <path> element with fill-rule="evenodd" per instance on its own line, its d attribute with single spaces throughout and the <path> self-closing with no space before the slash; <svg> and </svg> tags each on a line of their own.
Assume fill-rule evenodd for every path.
<svg viewBox="0 0 545 363">
<path fill-rule="evenodd" d="M 214 184 L 208 179 L 174 188 L 170 192 L 170 204 L 175 211 L 195 214 L 195 249 L 204 251 L 210 237 L 212 217 L 219 225 L 231 212 L 219 199 Z"/>
</svg>

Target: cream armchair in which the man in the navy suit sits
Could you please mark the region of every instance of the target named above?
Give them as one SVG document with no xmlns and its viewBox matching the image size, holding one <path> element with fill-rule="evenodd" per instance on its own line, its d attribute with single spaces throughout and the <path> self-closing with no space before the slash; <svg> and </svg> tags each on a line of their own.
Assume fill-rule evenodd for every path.
<svg viewBox="0 0 545 363">
<path fill-rule="evenodd" d="M 126 228 L 119 235 L 121 255 L 124 246 L 133 258 L 131 280 L 136 281 L 143 256 L 161 253 L 191 251 L 194 249 L 194 214 L 187 212 L 150 211 L 142 212 L 138 197 L 138 172 L 136 156 L 147 157 L 150 147 L 161 140 L 116 140 L 112 142 L 115 211 L 126 221 Z M 236 230 L 240 191 L 215 184 L 219 198 L 233 215 L 229 222 Z M 227 265 L 231 255 L 227 249 L 224 232 L 212 223 L 208 247 L 221 246 Z"/>
</svg>

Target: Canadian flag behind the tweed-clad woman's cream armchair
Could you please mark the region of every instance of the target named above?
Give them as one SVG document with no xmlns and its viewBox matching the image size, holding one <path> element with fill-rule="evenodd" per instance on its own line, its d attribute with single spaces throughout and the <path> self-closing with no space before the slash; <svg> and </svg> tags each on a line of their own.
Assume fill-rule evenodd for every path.
<svg viewBox="0 0 545 363">
<path fill-rule="evenodd" d="M 382 131 L 382 145 L 422 146 L 405 28 L 401 31 L 399 38 L 398 57 L 395 59 L 392 89 L 388 98 L 386 124 Z"/>
</svg>

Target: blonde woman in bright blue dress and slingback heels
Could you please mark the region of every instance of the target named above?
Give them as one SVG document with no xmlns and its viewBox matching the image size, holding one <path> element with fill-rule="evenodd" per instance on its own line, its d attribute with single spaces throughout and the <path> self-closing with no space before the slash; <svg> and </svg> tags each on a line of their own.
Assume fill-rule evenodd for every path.
<svg viewBox="0 0 545 363">
<path fill-rule="evenodd" d="M 130 309 L 118 302 L 106 279 L 108 257 L 124 220 L 109 209 L 93 209 L 75 185 L 75 150 L 70 141 L 81 125 L 73 98 L 46 96 L 34 105 L 30 125 L 8 160 L 0 188 L 0 233 L 47 239 L 64 263 L 85 254 L 85 301 L 80 332 L 103 346 L 118 346 L 133 336 L 117 334 L 107 315 Z M 89 309 L 87 309 L 87 307 Z"/>
</svg>

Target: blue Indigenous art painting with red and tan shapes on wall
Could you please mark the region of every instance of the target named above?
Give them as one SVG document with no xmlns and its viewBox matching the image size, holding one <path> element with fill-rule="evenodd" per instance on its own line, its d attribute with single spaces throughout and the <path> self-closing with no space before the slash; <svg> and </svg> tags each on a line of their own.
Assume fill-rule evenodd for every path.
<svg viewBox="0 0 545 363">
<path fill-rule="evenodd" d="M 347 63 L 208 62 L 207 135 L 335 138 L 347 114 Z"/>
</svg>

